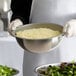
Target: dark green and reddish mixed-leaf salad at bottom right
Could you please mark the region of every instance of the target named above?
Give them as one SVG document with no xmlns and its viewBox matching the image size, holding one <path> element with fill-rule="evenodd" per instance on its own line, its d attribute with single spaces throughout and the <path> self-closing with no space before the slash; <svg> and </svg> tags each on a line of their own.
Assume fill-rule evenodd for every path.
<svg viewBox="0 0 76 76">
<path fill-rule="evenodd" d="M 76 76 L 76 63 L 61 63 L 58 66 L 49 65 L 38 70 L 40 76 Z"/>
</svg>

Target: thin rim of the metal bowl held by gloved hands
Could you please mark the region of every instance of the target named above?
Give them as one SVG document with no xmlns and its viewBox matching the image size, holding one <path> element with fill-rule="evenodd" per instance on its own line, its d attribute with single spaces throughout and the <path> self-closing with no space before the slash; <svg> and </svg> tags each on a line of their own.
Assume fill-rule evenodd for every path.
<svg viewBox="0 0 76 76">
<path fill-rule="evenodd" d="M 25 24 L 25 25 L 21 25 L 20 27 L 18 27 L 16 30 L 13 30 L 12 31 L 12 36 L 14 36 L 14 37 L 16 37 L 16 38 L 20 38 L 20 39 L 25 39 L 25 40 L 50 40 L 50 39 L 52 39 L 52 38 L 56 38 L 56 37 L 62 37 L 63 35 L 64 35 L 64 33 L 62 32 L 60 35 L 58 35 L 58 36 L 54 36 L 54 37 L 49 37 L 49 38 L 43 38 L 43 39 L 27 39 L 27 38 L 22 38 L 22 37 L 18 37 L 17 35 L 16 35 L 16 31 L 18 30 L 18 29 L 21 29 L 21 28 L 23 28 L 23 27 L 26 27 L 26 26 L 31 26 L 31 25 L 38 25 L 38 24 L 54 24 L 54 25 L 57 25 L 57 26 L 60 26 L 60 27 L 62 27 L 63 28 L 63 26 L 62 25 L 59 25 L 59 24 L 55 24 L 55 23 L 30 23 L 30 24 Z"/>
</svg>

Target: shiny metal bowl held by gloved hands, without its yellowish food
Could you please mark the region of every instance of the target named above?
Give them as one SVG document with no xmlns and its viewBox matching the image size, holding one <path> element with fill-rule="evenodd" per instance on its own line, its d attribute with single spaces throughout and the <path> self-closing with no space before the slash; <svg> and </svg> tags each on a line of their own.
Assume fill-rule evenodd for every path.
<svg viewBox="0 0 76 76">
<path fill-rule="evenodd" d="M 47 38 L 47 39 L 25 39 L 25 38 L 16 36 L 17 31 L 32 29 L 32 28 L 50 28 L 53 30 L 60 31 L 61 34 L 59 36 Z M 33 23 L 33 24 L 26 24 L 24 26 L 17 28 L 15 31 L 12 32 L 12 35 L 23 41 L 24 50 L 30 51 L 33 53 L 43 53 L 43 52 L 49 52 L 58 46 L 58 44 L 62 40 L 62 30 L 63 30 L 63 27 L 58 24 Z"/>
</svg>

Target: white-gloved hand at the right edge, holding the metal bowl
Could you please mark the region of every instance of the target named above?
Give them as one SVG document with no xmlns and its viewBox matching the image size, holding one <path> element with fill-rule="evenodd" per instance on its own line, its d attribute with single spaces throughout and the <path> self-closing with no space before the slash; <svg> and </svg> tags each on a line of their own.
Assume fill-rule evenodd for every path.
<svg viewBox="0 0 76 76">
<path fill-rule="evenodd" d="M 63 32 L 67 37 L 73 37 L 76 36 L 76 20 L 70 20 L 68 21 L 63 28 Z"/>
</svg>

